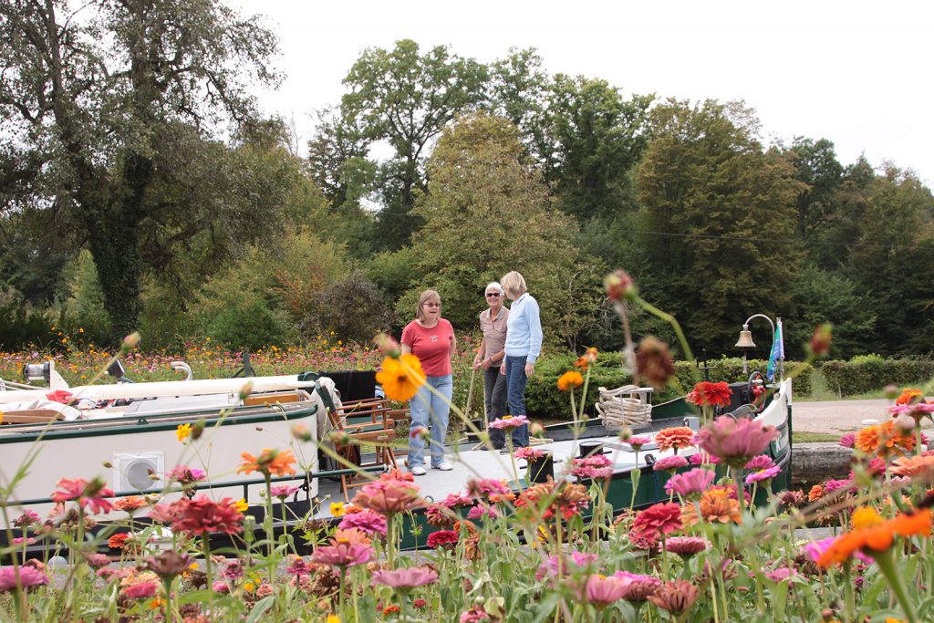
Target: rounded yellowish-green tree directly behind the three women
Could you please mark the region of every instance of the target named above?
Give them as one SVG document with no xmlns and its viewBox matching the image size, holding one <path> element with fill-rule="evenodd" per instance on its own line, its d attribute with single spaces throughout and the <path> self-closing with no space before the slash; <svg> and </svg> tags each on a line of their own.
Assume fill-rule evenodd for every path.
<svg viewBox="0 0 934 623">
<path fill-rule="evenodd" d="M 600 266 L 581 262 L 573 221 L 552 205 L 541 174 L 524 161 L 508 120 L 475 114 L 446 130 L 429 163 L 430 192 L 417 205 L 417 284 L 396 305 L 411 318 L 419 291 L 438 290 L 445 317 L 474 330 L 484 286 L 510 270 L 525 276 L 554 343 L 572 343 L 599 303 Z"/>
</svg>

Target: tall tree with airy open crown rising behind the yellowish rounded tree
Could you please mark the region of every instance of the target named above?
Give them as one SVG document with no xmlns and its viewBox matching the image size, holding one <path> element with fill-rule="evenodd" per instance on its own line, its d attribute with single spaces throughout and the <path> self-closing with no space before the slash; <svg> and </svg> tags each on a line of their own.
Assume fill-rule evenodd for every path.
<svg viewBox="0 0 934 623">
<path fill-rule="evenodd" d="M 400 248 L 420 227 L 411 216 L 417 193 L 425 191 L 425 160 L 433 139 L 460 112 L 484 97 L 487 69 L 438 46 L 424 54 L 410 39 L 393 50 L 370 48 L 350 68 L 341 99 L 347 128 L 369 144 L 385 141 L 392 155 L 381 164 L 378 188 L 383 210 L 378 232 L 384 248 Z"/>
</svg>

